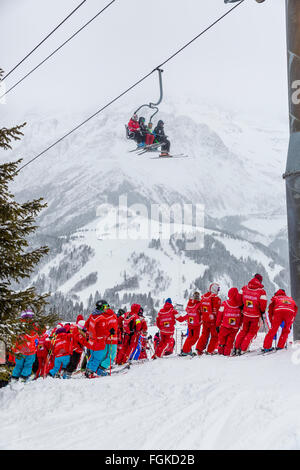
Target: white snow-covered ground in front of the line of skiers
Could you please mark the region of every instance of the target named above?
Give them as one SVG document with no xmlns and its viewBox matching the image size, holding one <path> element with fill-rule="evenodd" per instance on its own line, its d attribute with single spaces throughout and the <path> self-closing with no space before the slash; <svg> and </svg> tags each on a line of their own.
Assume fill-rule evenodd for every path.
<svg viewBox="0 0 300 470">
<path fill-rule="evenodd" d="M 126 375 L 7 387 L 0 448 L 300 449 L 293 354 L 174 357 Z"/>
</svg>

